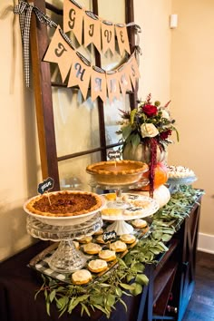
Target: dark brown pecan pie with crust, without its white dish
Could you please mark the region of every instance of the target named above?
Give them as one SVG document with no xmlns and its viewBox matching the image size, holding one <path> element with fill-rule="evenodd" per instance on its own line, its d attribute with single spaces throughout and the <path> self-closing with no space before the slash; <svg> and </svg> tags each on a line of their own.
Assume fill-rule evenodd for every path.
<svg viewBox="0 0 214 321">
<path fill-rule="evenodd" d="M 48 217 L 78 216 L 102 206 L 101 198 L 91 192 L 62 190 L 30 199 L 25 208 L 32 214 Z"/>
</svg>

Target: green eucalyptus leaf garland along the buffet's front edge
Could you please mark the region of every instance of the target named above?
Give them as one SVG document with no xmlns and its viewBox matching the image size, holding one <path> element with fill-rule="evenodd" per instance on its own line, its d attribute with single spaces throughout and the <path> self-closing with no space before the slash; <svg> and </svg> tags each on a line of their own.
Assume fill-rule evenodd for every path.
<svg viewBox="0 0 214 321">
<path fill-rule="evenodd" d="M 72 314 L 76 306 L 81 306 L 82 316 L 83 313 L 91 316 L 91 312 L 98 309 L 108 318 L 117 302 L 121 302 L 126 309 L 122 296 L 141 294 L 143 286 L 149 283 L 144 274 L 145 265 L 155 263 L 156 256 L 168 250 L 165 243 L 179 229 L 183 219 L 189 216 L 190 209 L 202 194 L 202 190 L 181 186 L 180 191 L 172 194 L 169 203 L 153 215 L 149 237 L 142 238 L 124 258 L 119 258 L 117 267 L 112 268 L 110 273 L 97 277 L 88 286 L 66 285 L 42 275 L 44 284 L 35 297 L 44 293 L 49 316 L 52 304 L 59 310 L 59 316 L 65 312 Z"/>
</svg>

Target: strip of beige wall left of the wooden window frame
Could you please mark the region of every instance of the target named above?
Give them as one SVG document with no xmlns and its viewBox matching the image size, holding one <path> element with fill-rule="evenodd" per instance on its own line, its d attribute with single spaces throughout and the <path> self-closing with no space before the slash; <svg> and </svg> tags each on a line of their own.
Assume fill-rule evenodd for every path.
<svg viewBox="0 0 214 321">
<path fill-rule="evenodd" d="M 38 160 L 33 92 L 24 88 L 22 45 L 13 1 L 0 3 L 0 260 L 33 240 L 24 200 L 35 193 Z"/>
</svg>

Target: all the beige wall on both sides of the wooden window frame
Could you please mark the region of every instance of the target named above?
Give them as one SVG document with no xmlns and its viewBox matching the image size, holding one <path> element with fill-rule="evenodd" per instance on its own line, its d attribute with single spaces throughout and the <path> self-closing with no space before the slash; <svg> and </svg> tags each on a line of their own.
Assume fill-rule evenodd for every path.
<svg viewBox="0 0 214 321">
<path fill-rule="evenodd" d="M 26 233 L 23 204 L 36 193 L 41 181 L 34 94 L 24 87 L 22 44 L 13 5 L 13 0 L 0 2 L 0 260 L 34 241 Z M 134 5 L 135 22 L 142 29 L 139 98 L 151 92 L 161 102 L 172 100 L 170 108 L 178 120 L 180 143 L 170 149 L 170 162 L 196 171 L 196 186 L 206 190 L 200 230 L 214 235 L 209 210 L 213 207 L 210 92 L 214 3 L 135 0 Z M 170 30 L 169 15 L 175 12 L 179 27 Z"/>
</svg>

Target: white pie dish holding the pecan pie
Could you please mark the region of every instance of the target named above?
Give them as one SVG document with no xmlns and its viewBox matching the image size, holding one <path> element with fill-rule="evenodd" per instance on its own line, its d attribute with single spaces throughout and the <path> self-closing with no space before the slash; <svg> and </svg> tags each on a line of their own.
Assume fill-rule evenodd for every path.
<svg viewBox="0 0 214 321">
<path fill-rule="evenodd" d="M 72 190 L 67 190 L 72 191 Z M 75 192 L 77 192 L 78 190 L 75 190 Z M 79 190 L 80 192 L 83 192 L 83 190 Z M 49 194 L 56 194 L 59 191 L 55 191 L 55 192 L 50 192 Z M 97 195 L 97 194 L 96 194 Z M 50 217 L 50 216 L 42 216 L 39 214 L 34 214 L 32 213 L 29 209 L 26 208 L 26 205 L 32 200 L 32 199 L 36 199 L 38 197 L 34 196 L 31 199 L 28 199 L 25 203 L 24 203 L 24 211 L 28 214 L 33 216 L 36 219 L 39 219 L 40 221 L 42 221 L 44 224 L 49 224 L 49 225 L 55 225 L 55 226 L 72 226 L 72 225 L 78 225 L 78 224 L 82 224 L 84 222 L 86 222 L 87 220 L 91 219 L 98 211 L 102 210 L 105 206 L 106 200 L 102 197 L 102 195 L 98 195 L 100 197 L 100 199 L 102 200 L 102 205 L 100 208 L 92 210 L 91 212 L 88 212 L 86 214 L 79 214 L 76 216 L 67 216 L 67 217 Z"/>
</svg>

